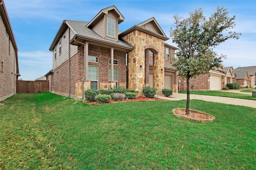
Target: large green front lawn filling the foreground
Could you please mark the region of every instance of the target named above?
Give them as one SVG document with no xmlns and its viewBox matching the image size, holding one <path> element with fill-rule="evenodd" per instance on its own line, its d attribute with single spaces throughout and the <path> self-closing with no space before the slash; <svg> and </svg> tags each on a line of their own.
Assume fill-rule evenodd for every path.
<svg viewBox="0 0 256 170">
<path fill-rule="evenodd" d="M 178 119 L 186 100 L 83 105 L 51 93 L 0 105 L 0 169 L 256 168 L 256 109 L 191 100 L 212 123 Z"/>
</svg>

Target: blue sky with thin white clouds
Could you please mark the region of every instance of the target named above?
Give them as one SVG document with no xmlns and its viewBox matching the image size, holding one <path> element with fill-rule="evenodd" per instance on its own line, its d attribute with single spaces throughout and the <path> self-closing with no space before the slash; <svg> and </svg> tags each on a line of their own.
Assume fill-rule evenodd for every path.
<svg viewBox="0 0 256 170">
<path fill-rule="evenodd" d="M 225 5 L 229 16 L 236 16 L 233 31 L 240 39 L 229 39 L 214 49 L 227 55 L 224 66 L 256 65 L 256 1 L 255 0 L 4 0 L 18 45 L 19 68 L 23 80 L 34 80 L 52 69 L 49 47 L 63 20 L 91 21 L 103 8 L 116 6 L 125 20 L 118 29 L 126 29 L 154 17 L 169 37 L 172 16 L 185 18 L 196 8 L 209 17 L 217 6 Z M 172 39 L 166 43 L 176 46 Z"/>
</svg>

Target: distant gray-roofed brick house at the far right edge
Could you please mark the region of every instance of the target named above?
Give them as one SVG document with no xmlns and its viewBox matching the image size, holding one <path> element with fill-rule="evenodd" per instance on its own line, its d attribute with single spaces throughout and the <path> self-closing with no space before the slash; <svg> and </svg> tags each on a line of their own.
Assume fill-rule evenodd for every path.
<svg viewBox="0 0 256 170">
<path fill-rule="evenodd" d="M 248 79 L 247 79 L 247 75 L 246 74 L 242 74 L 242 72 L 240 72 L 240 70 L 247 70 L 248 73 Z M 234 69 L 235 72 L 239 73 L 239 76 L 241 76 L 239 78 L 239 84 L 242 86 L 245 86 L 247 83 L 247 86 L 250 88 L 254 85 L 256 85 L 256 66 L 247 66 L 247 67 L 238 67 Z M 243 77 L 244 76 L 244 77 Z M 242 82 L 244 79 L 244 82 Z"/>
</svg>

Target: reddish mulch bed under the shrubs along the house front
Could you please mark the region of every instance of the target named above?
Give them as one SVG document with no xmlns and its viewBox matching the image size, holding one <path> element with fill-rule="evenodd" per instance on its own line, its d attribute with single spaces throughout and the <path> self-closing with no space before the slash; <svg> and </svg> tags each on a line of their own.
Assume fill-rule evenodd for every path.
<svg viewBox="0 0 256 170">
<path fill-rule="evenodd" d="M 110 100 L 110 102 L 106 103 L 106 104 L 112 104 L 112 103 L 120 103 L 120 102 L 147 102 L 147 101 L 167 101 L 166 99 L 160 99 L 160 98 L 146 98 L 146 97 L 142 97 L 142 96 L 138 96 L 136 99 L 124 99 L 124 100 Z M 100 103 L 93 101 L 93 102 L 89 102 L 89 101 L 82 101 L 83 104 L 86 105 L 101 105 Z"/>
</svg>

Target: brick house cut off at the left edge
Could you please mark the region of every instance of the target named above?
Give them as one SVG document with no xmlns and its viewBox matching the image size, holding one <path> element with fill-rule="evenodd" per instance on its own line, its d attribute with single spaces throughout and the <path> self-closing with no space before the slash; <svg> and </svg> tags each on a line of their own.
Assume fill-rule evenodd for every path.
<svg viewBox="0 0 256 170">
<path fill-rule="evenodd" d="M 16 94 L 18 80 L 18 47 L 4 5 L 0 0 L 0 101 Z"/>
</svg>

